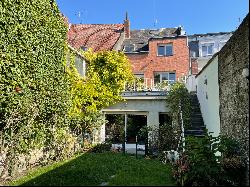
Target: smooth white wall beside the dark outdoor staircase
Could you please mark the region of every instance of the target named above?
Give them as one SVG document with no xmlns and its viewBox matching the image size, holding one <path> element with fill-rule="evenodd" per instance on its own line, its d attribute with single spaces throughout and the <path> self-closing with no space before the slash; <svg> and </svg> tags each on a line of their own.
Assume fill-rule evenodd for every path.
<svg viewBox="0 0 250 187">
<path fill-rule="evenodd" d="M 220 133 L 218 55 L 197 76 L 197 96 L 204 123 L 213 136 Z M 207 84 L 205 80 L 207 79 Z"/>
</svg>

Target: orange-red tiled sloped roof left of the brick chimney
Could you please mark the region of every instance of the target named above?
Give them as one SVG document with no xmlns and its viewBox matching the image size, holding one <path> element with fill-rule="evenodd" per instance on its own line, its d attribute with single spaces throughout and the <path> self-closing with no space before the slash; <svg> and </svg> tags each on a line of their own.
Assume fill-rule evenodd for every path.
<svg viewBox="0 0 250 187">
<path fill-rule="evenodd" d="M 123 31 L 123 24 L 71 24 L 68 43 L 76 49 L 111 50 Z"/>
</svg>

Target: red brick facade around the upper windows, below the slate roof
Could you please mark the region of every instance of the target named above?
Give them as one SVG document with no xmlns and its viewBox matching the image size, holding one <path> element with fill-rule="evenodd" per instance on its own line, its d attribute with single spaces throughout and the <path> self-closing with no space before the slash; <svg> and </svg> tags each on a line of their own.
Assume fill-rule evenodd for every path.
<svg viewBox="0 0 250 187">
<path fill-rule="evenodd" d="M 173 44 L 172 56 L 158 56 L 158 44 Z M 187 75 L 189 69 L 189 50 L 187 37 L 151 39 L 148 53 L 127 53 L 133 73 L 143 73 L 144 78 L 153 79 L 154 72 L 175 72 L 176 80 Z"/>
</svg>

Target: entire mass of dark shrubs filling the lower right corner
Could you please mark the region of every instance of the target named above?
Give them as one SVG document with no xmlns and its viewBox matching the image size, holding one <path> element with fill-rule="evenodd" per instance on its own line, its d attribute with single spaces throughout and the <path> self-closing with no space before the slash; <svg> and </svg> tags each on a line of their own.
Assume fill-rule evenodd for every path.
<svg viewBox="0 0 250 187">
<path fill-rule="evenodd" d="M 245 165 L 236 140 L 225 136 L 187 137 L 185 152 L 173 165 L 182 186 L 242 185 Z M 221 155 L 216 156 L 220 151 Z"/>
</svg>

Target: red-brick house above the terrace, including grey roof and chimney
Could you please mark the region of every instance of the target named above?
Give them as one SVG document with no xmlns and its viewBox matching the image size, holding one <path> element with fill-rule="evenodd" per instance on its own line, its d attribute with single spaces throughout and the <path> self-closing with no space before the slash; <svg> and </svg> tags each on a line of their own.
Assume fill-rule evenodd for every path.
<svg viewBox="0 0 250 187">
<path fill-rule="evenodd" d="M 124 29 L 129 34 L 125 34 L 121 50 L 132 64 L 133 73 L 148 87 L 164 80 L 173 83 L 187 74 L 189 49 L 181 27 L 130 31 L 129 24 L 125 24 Z"/>
</svg>

